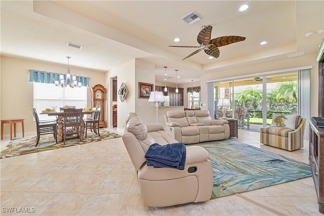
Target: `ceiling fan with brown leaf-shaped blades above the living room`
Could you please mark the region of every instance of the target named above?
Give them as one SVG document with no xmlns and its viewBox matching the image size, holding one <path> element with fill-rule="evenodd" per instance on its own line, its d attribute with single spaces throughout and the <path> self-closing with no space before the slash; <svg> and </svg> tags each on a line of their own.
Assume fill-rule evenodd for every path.
<svg viewBox="0 0 324 216">
<path fill-rule="evenodd" d="M 245 37 L 240 37 L 240 36 L 223 36 L 219 38 L 214 38 L 211 40 L 211 34 L 212 34 L 212 28 L 213 26 L 208 25 L 208 26 L 201 26 L 200 27 L 200 32 L 198 33 L 197 36 L 197 42 L 199 46 L 169 46 L 169 47 L 185 47 L 185 48 L 199 48 L 193 53 L 189 54 L 186 58 L 189 58 L 190 56 L 193 56 L 194 54 L 197 54 L 201 50 L 204 50 L 206 54 L 213 56 L 215 58 L 219 57 L 219 49 L 218 47 L 222 47 L 225 45 L 229 45 L 232 43 L 244 41 L 246 38 Z M 182 59 L 182 60 L 184 60 Z"/>
</svg>

